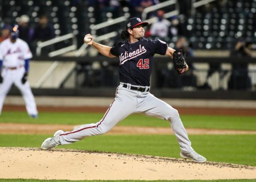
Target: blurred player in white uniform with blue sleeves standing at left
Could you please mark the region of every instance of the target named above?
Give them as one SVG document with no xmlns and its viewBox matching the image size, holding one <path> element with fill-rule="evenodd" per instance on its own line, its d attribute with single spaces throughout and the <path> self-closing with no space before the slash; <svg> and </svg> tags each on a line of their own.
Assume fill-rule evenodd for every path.
<svg viewBox="0 0 256 182">
<path fill-rule="evenodd" d="M 15 25 L 11 30 L 11 37 L 0 44 L 0 114 L 5 97 L 12 84 L 15 84 L 22 93 L 30 117 L 38 117 L 36 102 L 27 80 L 31 58 L 28 44 L 18 38 L 18 25 Z"/>
</svg>

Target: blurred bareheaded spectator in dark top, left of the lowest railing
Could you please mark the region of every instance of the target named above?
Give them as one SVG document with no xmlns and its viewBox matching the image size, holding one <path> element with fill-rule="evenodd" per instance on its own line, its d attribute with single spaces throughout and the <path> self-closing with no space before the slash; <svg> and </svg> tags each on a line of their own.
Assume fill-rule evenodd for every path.
<svg viewBox="0 0 256 182">
<path fill-rule="evenodd" d="M 46 15 L 40 16 L 39 24 L 34 29 L 32 41 L 46 41 L 55 37 L 52 25 L 48 23 Z"/>
</svg>

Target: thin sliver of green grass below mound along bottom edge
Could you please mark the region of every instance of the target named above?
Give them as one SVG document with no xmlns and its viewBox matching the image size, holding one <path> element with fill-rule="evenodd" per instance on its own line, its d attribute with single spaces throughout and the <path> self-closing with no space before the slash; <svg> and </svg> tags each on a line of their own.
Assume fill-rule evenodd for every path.
<svg viewBox="0 0 256 182">
<path fill-rule="evenodd" d="M 70 181 L 70 180 L 32 180 L 32 179 L 0 179 L 0 182 L 255 182 L 254 180 L 79 180 L 79 181 Z"/>
</svg>

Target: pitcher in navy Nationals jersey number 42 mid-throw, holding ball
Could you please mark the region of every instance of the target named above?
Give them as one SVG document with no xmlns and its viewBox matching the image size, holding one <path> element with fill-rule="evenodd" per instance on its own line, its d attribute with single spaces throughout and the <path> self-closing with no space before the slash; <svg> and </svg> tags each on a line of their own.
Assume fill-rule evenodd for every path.
<svg viewBox="0 0 256 182">
<path fill-rule="evenodd" d="M 103 118 L 98 123 L 86 124 L 73 131 L 57 131 L 52 138 L 46 139 L 41 149 L 51 149 L 58 145 L 66 145 L 85 137 L 100 135 L 110 131 L 119 121 L 134 113 L 142 113 L 160 117 L 170 122 L 180 145 L 180 156 L 191 158 L 195 162 L 205 162 L 191 147 L 188 134 L 180 120 L 178 111 L 150 93 L 150 74 L 153 67 L 154 54 L 168 55 L 174 61 L 174 68 L 179 74 L 188 70 L 182 50 L 175 51 L 167 43 L 144 38 L 144 26 L 140 18 L 130 18 L 125 23 L 121 38 L 124 40 L 114 47 L 94 42 L 92 35 L 87 34 L 84 41 L 107 57 L 119 57 L 120 85 L 116 89 L 116 97 L 110 104 Z"/>
</svg>

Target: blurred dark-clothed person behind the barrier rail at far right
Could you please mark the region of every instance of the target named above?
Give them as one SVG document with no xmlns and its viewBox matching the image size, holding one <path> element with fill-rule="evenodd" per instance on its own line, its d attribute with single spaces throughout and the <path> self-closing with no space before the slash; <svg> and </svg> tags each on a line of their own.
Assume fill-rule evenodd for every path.
<svg viewBox="0 0 256 182">
<path fill-rule="evenodd" d="M 241 59 L 250 58 L 252 57 L 251 49 L 252 43 L 241 39 L 236 43 L 231 55 Z M 228 82 L 228 88 L 243 90 L 250 89 L 251 85 L 251 79 L 248 76 L 248 63 L 232 63 L 232 74 Z"/>
</svg>

